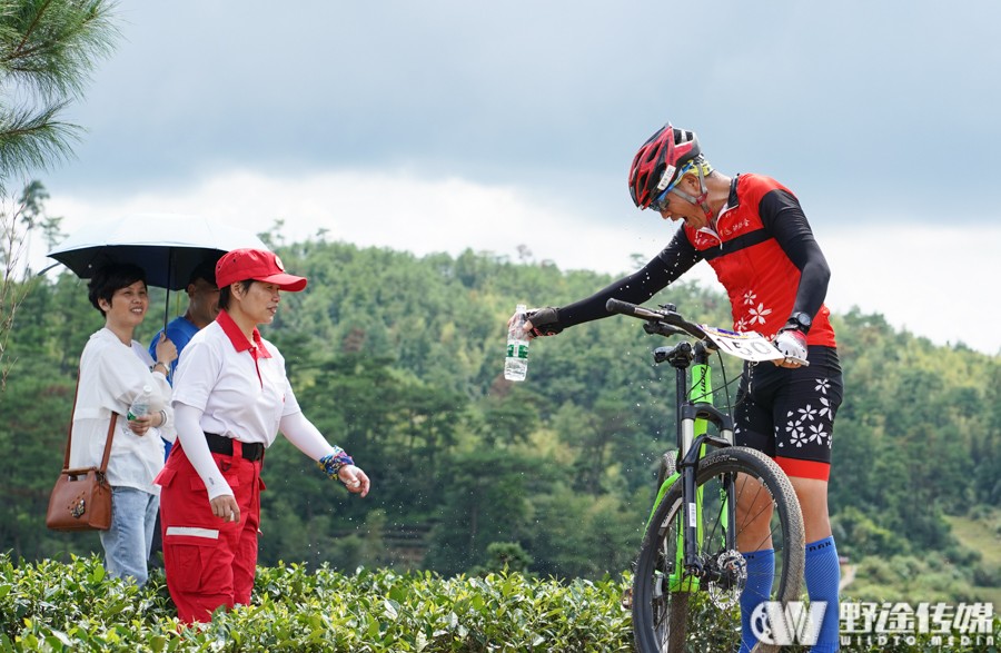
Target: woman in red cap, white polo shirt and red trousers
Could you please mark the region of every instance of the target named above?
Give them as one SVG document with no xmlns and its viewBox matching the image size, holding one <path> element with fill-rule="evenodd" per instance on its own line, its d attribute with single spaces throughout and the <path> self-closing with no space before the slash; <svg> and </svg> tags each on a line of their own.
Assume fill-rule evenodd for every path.
<svg viewBox="0 0 1001 653">
<path fill-rule="evenodd" d="M 182 622 L 210 621 L 250 603 L 260 524 L 260 468 L 280 431 L 348 492 L 369 481 L 304 415 L 285 359 L 257 326 L 275 319 L 280 293 L 304 277 L 270 251 L 236 249 L 216 266 L 219 311 L 185 348 L 174 379 L 177 446 L 157 477 L 167 587 Z"/>
</svg>

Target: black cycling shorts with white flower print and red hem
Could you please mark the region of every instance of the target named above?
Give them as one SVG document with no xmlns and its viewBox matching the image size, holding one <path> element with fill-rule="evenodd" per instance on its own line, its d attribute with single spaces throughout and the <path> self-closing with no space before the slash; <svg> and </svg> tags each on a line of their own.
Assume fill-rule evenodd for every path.
<svg viewBox="0 0 1001 653">
<path fill-rule="evenodd" d="M 809 367 L 746 364 L 734 408 L 734 442 L 767 454 L 787 476 L 827 481 L 834 415 L 844 397 L 834 347 L 809 348 Z"/>
</svg>

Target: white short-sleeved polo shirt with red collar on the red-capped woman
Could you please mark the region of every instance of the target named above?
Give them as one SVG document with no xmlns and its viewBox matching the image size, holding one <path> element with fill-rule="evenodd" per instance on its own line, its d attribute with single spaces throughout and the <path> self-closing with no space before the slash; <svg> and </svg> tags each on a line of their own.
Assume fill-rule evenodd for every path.
<svg viewBox="0 0 1001 653">
<path fill-rule="evenodd" d="M 174 403 L 202 410 L 200 426 L 270 446 L 281 417 L 299 413 L 285 358 L 254 329 L 254 344 L 225 310 L 191 338 L 174 377 Z"/>
</svg>

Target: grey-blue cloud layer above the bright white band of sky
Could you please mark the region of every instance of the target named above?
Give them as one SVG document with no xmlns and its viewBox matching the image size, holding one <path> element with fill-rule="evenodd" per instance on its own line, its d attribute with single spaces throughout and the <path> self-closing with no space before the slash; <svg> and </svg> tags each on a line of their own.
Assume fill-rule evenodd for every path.
<svg viewBox="0 0 1001 653">
<path fill-rule="evenodd" d="M 670 118 L 723 171 L 773 175 L 841 219 L 865 202 L 963 220 L 1001 146 L 992 0 L 121 11 L 126 41 L 71 112 L 89 135 L 52 192 L 410 167 L 628 208 L 633 151 Z"/>
</svg>

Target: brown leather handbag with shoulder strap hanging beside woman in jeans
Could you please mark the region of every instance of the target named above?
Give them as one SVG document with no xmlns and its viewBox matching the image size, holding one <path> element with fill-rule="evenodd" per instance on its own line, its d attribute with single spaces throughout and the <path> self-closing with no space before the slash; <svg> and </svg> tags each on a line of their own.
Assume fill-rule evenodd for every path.
<svg viewBox="0 0 1001 653">
<path fill-rule="evenodd" d="M 78 377 L 78 392 L 79 384 Z M 73 393 L 75 413 L 76 409 L 77 393 Z M 49 495 L 49 509 L 46 512 L 46 526 L 52 531 L 107 531 L 111 527 L 111 486 L 108 484 L 105 473 L 108 469 L 108 456 L 111 454 L 111 439 L 115 437 L 118 413 L 111 413 L 111 424 L 108 426 L 108 439 L 105 443 L 101 466 L 70 469 L 69 454 L 73 441 L 73 418 L 70 413 L 62 472 L 56 479 L 52 494 Z"/>
</svg>

